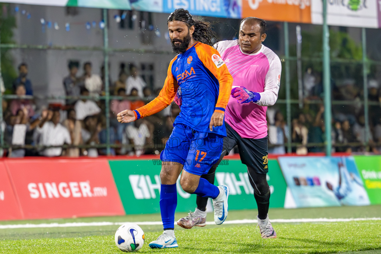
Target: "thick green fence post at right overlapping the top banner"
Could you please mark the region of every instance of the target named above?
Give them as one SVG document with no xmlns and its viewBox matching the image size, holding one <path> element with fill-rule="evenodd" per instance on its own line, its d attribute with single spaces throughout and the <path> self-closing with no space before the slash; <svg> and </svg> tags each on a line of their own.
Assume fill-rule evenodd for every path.
<svg viewBox="0 0 381 254">
<path fill-rule="evenodd" d="M 327 0 L 323 0 L 323 87 L 324 87 L 324 122 L 325 154 L 331 156 L 331 64 L 330 30 L 327 24 Z"/>
</svg>

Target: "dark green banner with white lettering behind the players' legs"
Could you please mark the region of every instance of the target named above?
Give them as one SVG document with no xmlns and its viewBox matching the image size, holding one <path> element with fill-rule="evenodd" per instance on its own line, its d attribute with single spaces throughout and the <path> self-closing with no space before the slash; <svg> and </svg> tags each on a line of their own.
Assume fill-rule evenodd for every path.
<svg viewBox="0 0 381 254">
<path fill-rule="evenodd" d="M 109 161 L 126 214 L 160 212 L 160 160 Z M 270 207 L 283 207 L 286 183 L 278 162 L 269 160 L 267 181 L 270 185 Z M 229 209 L 256 208 L 253 188 L 247 168 L 240 160 L 223 160 L 217 168 L 215 185 L 225 184 L 230 189 Z M 194 211 L 196 195 L 184 192 L 177 181 L 177 212 Z"/>
</svg>

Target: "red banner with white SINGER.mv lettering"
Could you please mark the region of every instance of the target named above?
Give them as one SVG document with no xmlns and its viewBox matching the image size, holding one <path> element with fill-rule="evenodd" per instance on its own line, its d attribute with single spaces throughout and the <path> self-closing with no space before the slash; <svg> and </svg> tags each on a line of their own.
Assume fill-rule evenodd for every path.
<svg viewBox="0 0 381 254">
<path fill-rule="evenodd" d="M 25 219 L 124 215 L 106 159 L 5 160 Z"/>
</svg>

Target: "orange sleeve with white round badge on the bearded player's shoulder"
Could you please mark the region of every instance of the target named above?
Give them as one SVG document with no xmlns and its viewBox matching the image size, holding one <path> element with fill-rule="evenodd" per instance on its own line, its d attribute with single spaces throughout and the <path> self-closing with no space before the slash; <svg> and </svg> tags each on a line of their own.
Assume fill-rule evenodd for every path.
<svg viewBox="0 0 381 254">
<path fill-rule="evenodd" d="M 219 94 L 215 105 L 215 112 L 224 113 L 227 102 L 229 102 L 233 77 L 218 51 L 211 46 L 201 44 L 196 48 L 196 53 L 201 62 L 208 68 L 208 70 L 210 70 L 219 82 Z"/>
</svg>

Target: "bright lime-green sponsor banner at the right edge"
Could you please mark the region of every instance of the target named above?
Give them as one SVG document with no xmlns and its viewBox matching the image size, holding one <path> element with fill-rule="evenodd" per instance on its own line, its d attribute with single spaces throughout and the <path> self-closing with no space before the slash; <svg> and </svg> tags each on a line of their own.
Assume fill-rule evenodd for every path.
<svg viewBox="0 0 381 254">
<path fill-rule="evenodd" d="M 381 204 L 381 156 L 354 156 L 371 204 Z"/>
</svg>

